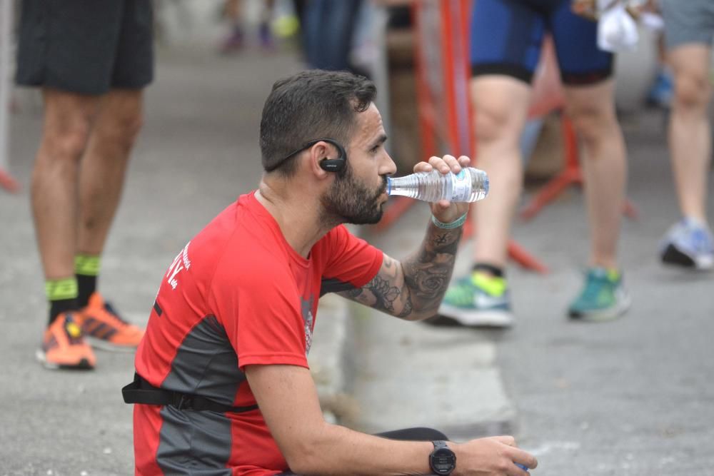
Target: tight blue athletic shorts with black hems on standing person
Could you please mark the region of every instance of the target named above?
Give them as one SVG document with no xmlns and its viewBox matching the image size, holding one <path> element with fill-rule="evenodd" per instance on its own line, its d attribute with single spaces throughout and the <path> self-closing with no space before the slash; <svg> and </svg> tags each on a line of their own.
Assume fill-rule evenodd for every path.
<svg viewBox="0 0 714 476">
<path fill-rule="evenodd" d="M 568 85 L 613 74 L 613 55 L 598 49 L 597 24 L 573 14 L 570 0 L 476 0 L 471 17 L 471 74 L 531 82 L 543 36 L 550 33 Z"/>
</svg>

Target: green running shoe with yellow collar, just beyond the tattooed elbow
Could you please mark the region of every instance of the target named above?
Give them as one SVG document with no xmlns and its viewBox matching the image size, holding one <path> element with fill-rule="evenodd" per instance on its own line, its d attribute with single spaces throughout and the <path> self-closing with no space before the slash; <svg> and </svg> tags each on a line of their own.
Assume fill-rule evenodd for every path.
<svg viewBox="0 0 714 476">
<path fill-rule="evenodd" d="M 436 325 L 507 328 L 513 324 L 506 279 L 474 272 L 446 290 Z"/>
</svg>

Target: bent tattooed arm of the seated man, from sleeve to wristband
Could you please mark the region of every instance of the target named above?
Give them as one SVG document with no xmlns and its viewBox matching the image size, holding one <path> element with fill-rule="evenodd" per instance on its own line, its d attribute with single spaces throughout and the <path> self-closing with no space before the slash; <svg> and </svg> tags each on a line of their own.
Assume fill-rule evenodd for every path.
<svg viewBox="0 0 714 476">
<path fill-rule="evenodd" d="M 456 259 L 461 227 L 429 223 L 421 248 L 399 262 L 384 255 L 377 275 L 362 288 L 340 295 L 406 320 L 431 318 L 439 308 Z"/>
</svg>

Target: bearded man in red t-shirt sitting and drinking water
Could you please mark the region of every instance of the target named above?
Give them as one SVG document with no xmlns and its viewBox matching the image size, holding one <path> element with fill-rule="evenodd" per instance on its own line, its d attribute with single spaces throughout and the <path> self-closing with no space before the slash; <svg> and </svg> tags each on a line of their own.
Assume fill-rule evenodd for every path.
<svg viewBox="0 0 714 476">
<path fill-rule="evenodd" d="M 523 476 L 537 464 L 510 436 L 456 444 L 435 430 L 375 436 L 323 419 L 306 357 L 318 298 L 336 292 L 398 318 L 431 317 L 468 211 L 432 203 L 421 248 L 402 262 L 343 226 L 379 221 L 396 171 L 375 93 L 345 72 L 274 84 L 258 190 L 178 253 L 139 345 L 124 388 L 137 404 L 137 475 Z M 414 170 L 468 163 L 431 157 Z"/>
</svg>

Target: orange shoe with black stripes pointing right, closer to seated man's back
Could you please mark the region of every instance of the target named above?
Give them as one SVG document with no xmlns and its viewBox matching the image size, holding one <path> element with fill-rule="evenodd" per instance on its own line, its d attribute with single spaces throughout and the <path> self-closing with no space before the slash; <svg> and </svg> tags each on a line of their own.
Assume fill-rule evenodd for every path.
<svg viewBox="0 0 714 476">
<path fill-rule="evenodd" d="M 130 352 L 144 337 L 144 330 L 126 322 L 104 302 L 99 293 L 89 297 L 89 304 L 78 315 L 87 342 L 94 348 Z"/>
</svg>

